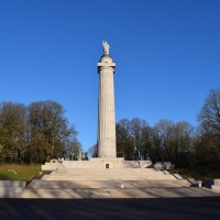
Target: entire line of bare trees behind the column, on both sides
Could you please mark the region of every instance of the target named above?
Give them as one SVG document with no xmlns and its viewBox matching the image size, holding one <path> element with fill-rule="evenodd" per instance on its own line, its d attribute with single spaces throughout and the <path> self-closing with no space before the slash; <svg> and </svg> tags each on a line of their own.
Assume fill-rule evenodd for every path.
<svg viewBox="0 0 220 220">
<path fill-rule="evenodd" d="M 76 160 L 81 145 L 77 130 L 55 101 L 29 106 L 0 102 L 0 161 L 45 163 Z M 210 90 L 198 127 L 187 121 L 122 119 L 117 123 L 117 156 L 128 161 L 169 161 L 177 166 L 220 164 L 220 89 Z M 89 148 L 97 156 L 97 145 Z M 86 156 L 87 157 L 87 156 Z"/>
</svg>

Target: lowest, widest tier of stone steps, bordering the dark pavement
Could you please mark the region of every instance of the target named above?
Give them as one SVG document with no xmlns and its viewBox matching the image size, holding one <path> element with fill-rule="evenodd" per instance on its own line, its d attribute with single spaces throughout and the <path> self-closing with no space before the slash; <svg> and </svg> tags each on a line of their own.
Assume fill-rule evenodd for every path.
<svg viewBox="0 0 220 220">
<path fill-rule="evenodd" d="M 148 187 L 136 189 L 25 189 L 19 198 L 177 198 L 177 197 L 210 197 L 219 196 L 206 188 L 190 187 Z"/>
</svg>

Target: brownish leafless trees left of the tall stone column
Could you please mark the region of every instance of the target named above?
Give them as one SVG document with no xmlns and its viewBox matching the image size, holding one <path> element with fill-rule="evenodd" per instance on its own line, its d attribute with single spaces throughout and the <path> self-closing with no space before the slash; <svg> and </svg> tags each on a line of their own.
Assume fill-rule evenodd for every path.
<svg viewBox="0 0 220 220">
<path fill-rule="evenodd" d="M 77 130 L 55 101 L 0 102 L 0 161 L 45 163 L 77 153 Z"/>
</svg>

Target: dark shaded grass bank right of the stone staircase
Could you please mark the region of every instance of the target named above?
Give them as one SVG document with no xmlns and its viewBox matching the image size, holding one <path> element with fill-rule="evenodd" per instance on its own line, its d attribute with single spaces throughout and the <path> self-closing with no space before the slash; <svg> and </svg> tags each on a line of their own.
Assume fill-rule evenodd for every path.
<svg viewBox="0 0 220 220">
<path fill-rule="evenodd" d="M 219 165 L 204 165 L 193 168 L 178 168 L 170 170 L 173 174 L 179 174 L 184 178 L 193 177 L 197 180 L 208 182 L 220 178 Z"/>
</svg>

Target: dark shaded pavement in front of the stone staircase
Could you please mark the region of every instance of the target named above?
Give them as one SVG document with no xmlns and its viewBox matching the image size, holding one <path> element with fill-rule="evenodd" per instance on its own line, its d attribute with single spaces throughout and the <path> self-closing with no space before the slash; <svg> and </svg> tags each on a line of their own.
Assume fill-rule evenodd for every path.
<svg viewBox="0 0 220 220">
<path fill-rule="evenodd" d="M 168 199 L 0 199 L 0 219 L 220 219 L 220 197 Z"/>
</svg>

